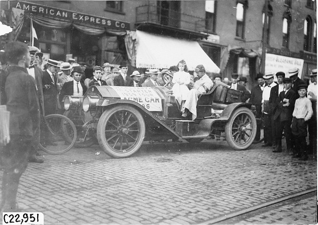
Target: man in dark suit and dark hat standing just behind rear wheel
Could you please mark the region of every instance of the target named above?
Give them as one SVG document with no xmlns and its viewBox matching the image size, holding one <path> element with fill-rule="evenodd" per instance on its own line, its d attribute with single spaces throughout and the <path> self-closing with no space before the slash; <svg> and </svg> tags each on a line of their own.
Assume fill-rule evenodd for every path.
<svg viewBox="0 0 318 225">
<path fill-rule="evenodd" d="M 265 87 L 265 80 L 263 78 L 263 74 L 257 74 L 255 77 L 257 80 L 257 85 L 255 85 L 251 90 L 250 102 L 255 105 L 256 108 L 256 118 L 261 118 L 262 116 L 262 95 Z M 257 129 L 255 141 L 259 141 L 261 136 L 261 122 L 257 120 Z"/>
</svg>

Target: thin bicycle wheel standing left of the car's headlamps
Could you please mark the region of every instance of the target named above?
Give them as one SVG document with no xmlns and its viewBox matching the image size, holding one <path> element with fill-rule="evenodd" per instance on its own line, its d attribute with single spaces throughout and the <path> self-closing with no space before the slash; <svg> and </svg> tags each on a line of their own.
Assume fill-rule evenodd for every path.
<svg viewBox="0 0 318 225">
<path fill-rule="evenodd" d="M 77 139 L 77 131 L 74 123 L 66 116 L 60 114 L 50 114 L 45 116 L 45 130 L 41 134 L 47 133 L 50 139 L 57 145 L 44 146 L 41 141 L 39 147 L 49 154 L 62 154 L 70 150 Z"/>
</svg>

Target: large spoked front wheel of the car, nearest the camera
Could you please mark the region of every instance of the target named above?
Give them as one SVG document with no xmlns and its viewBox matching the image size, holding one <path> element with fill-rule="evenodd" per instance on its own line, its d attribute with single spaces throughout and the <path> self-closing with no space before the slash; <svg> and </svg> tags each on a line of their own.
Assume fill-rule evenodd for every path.
<svg viewBox="0 0 318 225">
<path fill-rule="evenodd" d="M 105 111 L 97 124 L 98 143 L 106 154 L 114 158 L 129 157 L 139 150 L 145 132 L 142 115 L 127 105 Z"/>
</svg>

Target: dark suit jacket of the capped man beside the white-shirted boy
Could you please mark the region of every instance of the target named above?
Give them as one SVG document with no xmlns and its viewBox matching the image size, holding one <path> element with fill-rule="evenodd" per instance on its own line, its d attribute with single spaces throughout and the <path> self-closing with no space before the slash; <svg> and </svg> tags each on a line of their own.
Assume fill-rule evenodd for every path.
<svg viewBox="0 0 318 225">
<path fill-rule="evenodd" d="M 286 103 L 283 102 L 284 99 L 289 100 L 289 106 L 283 106 L 283 104 Z M 280 102 L 277 106 L 275 114 L 273 114 L 274 120 L 276 120 L 277 118 L 279 119 L 280 117 L 280 121 L 292 121 L 296 101 L 296 93 L 294 92 L 294 90 L 289 89 L 289 91 L 285 95 L 285 91 L 282 91 L 281 93 L 279 93 L 279 100 Z"/>
</svg>

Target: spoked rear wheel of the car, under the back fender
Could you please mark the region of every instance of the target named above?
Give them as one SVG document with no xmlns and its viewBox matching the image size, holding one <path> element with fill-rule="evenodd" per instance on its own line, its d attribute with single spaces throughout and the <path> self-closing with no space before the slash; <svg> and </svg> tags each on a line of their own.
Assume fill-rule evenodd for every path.
<svg viewBox="0 0 318 225">
<path fill-rule="evenodd" d="M 227 144 L 234 150 L 246 150 L 256 135 L 256 119 L 246 107 L 235 109 L 225 126 Z"/>
</svg>

